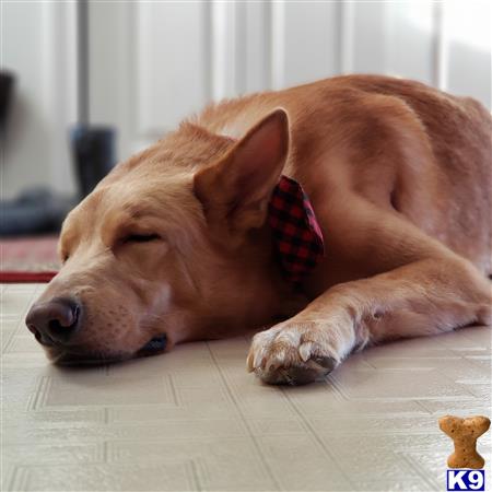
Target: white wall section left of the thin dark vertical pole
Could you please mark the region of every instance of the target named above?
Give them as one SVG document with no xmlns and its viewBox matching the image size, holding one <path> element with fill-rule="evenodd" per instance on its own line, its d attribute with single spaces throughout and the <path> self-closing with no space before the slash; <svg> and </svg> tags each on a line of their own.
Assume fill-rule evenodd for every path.
<svg viewBox="0 0 492 492">
<path fill-rule="evenodd" d="M 1 150 L 1 197 L 38 184 L 71 194 L 68 127 L 77 112 L 74 3 L 0 3 L 0 66 L 16 75 Z"/>
</svg>

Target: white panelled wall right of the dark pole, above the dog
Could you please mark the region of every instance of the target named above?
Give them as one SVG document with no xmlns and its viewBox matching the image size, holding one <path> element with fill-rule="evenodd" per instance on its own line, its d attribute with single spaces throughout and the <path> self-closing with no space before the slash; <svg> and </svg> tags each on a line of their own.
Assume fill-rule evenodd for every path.
<svg viewBox="0 0 492 492">
<path fill-rule="evenodd" d="M 99 1 L 91 19 L 92 113 L 121 129 L 121 157 L 211 99 L 338 73 L 418 79 L 491 105 L 488 1 Z"/>
</svg>

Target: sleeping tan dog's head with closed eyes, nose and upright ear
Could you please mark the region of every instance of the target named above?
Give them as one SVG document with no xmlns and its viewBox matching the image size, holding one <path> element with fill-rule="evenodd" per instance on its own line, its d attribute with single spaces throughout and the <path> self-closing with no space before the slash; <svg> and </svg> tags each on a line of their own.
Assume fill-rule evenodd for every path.
<svg viewBox="0 0 492 492">
<path fill-rule="evenodd" d="M 288 148 L 277 110 L 239 141 L 185 124 L 117 166 L 66 219 L 62 268 L 27 315 L 48 354 L 128 359 L 281 315 L 266 218 Z"/>
</svg>

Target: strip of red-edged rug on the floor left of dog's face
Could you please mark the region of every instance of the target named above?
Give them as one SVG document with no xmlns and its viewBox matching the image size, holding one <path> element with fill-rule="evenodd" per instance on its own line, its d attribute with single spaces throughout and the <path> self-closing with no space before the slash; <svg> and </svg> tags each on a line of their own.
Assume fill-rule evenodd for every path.
<svg viewBox="0 0 492 492">
<path fill-rule="evenodd" d="M 58 272 L 57 236 L 0 241 L 0 282 L 49 282 Z"/>
</svg>

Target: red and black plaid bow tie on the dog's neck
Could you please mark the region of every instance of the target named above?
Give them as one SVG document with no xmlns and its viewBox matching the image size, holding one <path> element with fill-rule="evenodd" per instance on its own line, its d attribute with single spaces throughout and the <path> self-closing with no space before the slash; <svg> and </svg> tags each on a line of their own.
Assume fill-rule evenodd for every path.
<svg viewBox="0 0 492 492">
<path fill-rule="evenodd" d="M 323 258 L 325 246 L 309 199 L 297 181 L 281 176 L 268 220 L 285 278 L 298 284 Z"/>
</svg>

